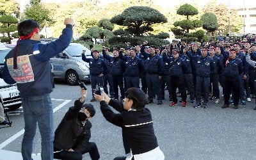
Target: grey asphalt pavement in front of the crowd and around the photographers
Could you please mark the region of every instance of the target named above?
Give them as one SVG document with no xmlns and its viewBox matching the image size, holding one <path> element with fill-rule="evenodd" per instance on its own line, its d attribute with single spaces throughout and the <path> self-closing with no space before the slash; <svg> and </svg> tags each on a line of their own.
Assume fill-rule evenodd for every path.
<svg viewBox="0 0 256 160">
<path fill-rule="evenodd" d="M 90 84 L 86 102 L 92 99 Z M 57 82 L 51 94 L 54 105 L 54 128 L 79 97 L 79 86 L 68 86 Z M 166 92 L 166 98 L 168 98 Z M 189 95 L 188 95 L 189 97 Z M 179 98 L 180 100 L 180 98 Z M 256 111 L 255 99 L 239 105 L 238 109 L 222 109 L 220 104 L 209 100 L 208 108 L 193 108 L 188 102 L 186 108 L 178 102 L 170 107 L 169 99 L 162 105 L 148 104 L 152 113 L 154 130 L 165 159 L 256 159 Z M 100 159 L 109 160 L 124 155 L 122 132 L 119 127 L 109 124 L 100 112 L 99 102 L 92 102 L 96 114 L 92 118 L 92 138 L 100 152 Z M 12 127 L 0 129 L 0 160 L 19 160 L 24 127 L 22 108 L 9 113 Z M 40 134 L 37 131 L 33 145 L 33 157 L 40 159 Z M 13 159 L 13 155 L 19 155 Z M 83 159 L 90 159 L 84 154 Z"/>
</svg>

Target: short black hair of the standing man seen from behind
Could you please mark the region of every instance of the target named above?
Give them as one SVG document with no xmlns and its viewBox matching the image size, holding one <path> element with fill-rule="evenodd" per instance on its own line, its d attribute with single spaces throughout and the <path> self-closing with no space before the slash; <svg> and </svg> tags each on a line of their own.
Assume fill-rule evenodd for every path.
<svg viewBox="0 0 256 160">
<path fill-rule="evenodd" d="M 40 28 L 35 20 L 24 20 L 18 24 L 17 30 L 19 36 L 28 36 L 35 28 Z"/>
</svg>

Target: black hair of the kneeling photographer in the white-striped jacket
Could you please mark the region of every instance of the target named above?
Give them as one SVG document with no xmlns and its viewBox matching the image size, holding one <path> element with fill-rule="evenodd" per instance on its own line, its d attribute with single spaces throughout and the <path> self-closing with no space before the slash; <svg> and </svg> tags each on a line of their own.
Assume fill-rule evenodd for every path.
<svg viewBox="0 0 256 160">
<path fill-rule="evenodd" d="M 125 97 L 133 100 L 133 109 L 143 109 L 147 103 L 146 95 L 140 88 L 128 88 L 125 92 Z"/>
</svg>

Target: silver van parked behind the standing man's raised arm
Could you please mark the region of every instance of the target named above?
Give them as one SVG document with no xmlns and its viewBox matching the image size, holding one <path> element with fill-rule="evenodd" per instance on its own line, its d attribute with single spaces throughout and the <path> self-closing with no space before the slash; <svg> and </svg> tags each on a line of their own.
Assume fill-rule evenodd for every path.
<svg viewBox="0 0 256 160">
<path fill-rule="evenodd" d="M 54 79 L 63 79 L 70 85 L 77 85 L 80 81 L 90 81 L 89 64 L 82 60 L 82 52 L 92 58 L 91 51 L 84 45 L 70 43 L 63 52 L 51 58 Z"/>
</svg>

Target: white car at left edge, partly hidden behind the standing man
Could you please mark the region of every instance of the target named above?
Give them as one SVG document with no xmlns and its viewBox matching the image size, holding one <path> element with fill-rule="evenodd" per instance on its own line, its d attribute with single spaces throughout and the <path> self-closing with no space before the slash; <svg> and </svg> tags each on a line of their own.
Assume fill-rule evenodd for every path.
<svg viewBox="0 0 256 160">
<path fill-rule="evenodd" d="M 4 57 L 11 49 L 0 44 L 0 68 L 4 66 Z M 21 106 L 20 92 L 16 84 L 7 84 L 0 79 L 0 100 L 4 108 L 18 109 Z"/>
</svg>

